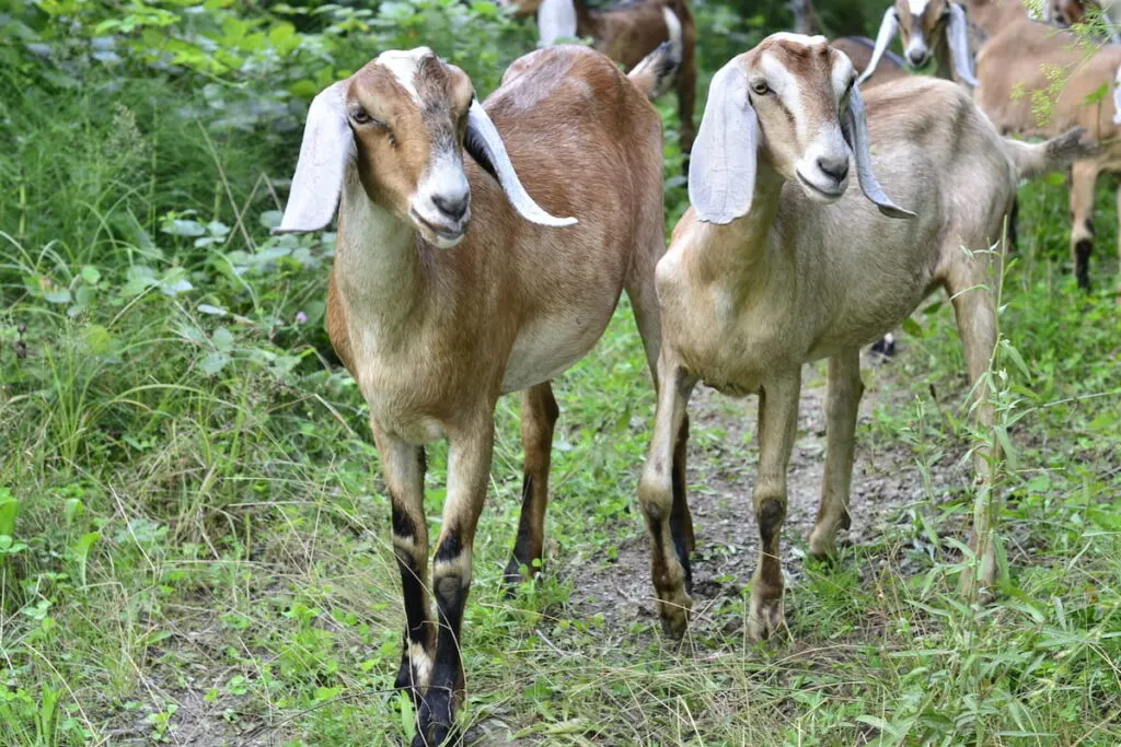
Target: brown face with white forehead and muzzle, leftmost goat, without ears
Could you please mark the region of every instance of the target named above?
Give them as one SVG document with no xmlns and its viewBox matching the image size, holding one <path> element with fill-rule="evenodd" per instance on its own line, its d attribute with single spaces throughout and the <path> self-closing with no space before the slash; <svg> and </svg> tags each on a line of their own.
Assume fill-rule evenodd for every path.
<svg viewBox="0 0 1121 747">
<path fill-rule="evenodd" d="M 462 148 L 472 97 L 466 74 L 426 47 L 382 53 L 345 94 L 367 195 L 442 249 L 471 221 Z"/>
</svg>

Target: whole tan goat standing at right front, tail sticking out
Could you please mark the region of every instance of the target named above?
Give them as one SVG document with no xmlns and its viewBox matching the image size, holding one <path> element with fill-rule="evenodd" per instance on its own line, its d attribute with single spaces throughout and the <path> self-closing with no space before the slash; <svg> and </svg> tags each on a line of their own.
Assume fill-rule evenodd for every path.
<svg viewBox="0 0 1121 747">
<path fill-rule="evenodd" d="M 947 81 L 911 76 L 873 87 L 865 100 L 852 64 L 824 37 L 777 34 L 716 73 L 693 152 L 693 205 L 656 272 L 660 389 L 639 499 L 667 631 L 685 628 L 692 605 L 692 532 L 678 520 L 688 506 L 674 477 L 696 383 L 759 395 L 760 550 L 748 629 L 766 638 L 784 624 L 779 538 L 803 365 L 828 358 L 825 479 L 809 535 L 810 553 L 827 557 L 837 529 L 850 524 L 860 347 L 944 289 L 976 413 L 991 427 L 976 385 L 997 339 L 998 261 L 989 250 L 1017 180 L 1082 148 L 1078 133 L 1040 146 L 1004 140 Z M 847 188 L 852 170 L 868 199 Z M 877 174 L 917 214 L 897 207 Z M 985 482 L 988 457 L 979 450 L 975 458 Z M 995 580 L 991 519 L 989 511 L 974 516 L 980 563 L 963 575 L 967 592 Z"/>
</svg>

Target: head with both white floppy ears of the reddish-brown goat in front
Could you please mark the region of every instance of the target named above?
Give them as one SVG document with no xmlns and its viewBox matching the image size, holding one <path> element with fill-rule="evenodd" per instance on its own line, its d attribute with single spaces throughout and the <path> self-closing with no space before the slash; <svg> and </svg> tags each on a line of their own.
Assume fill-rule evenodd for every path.
<svg viewBox="0 0 1121 747">
<path fill-rule="evenodd" d="M 553 217 L 532 200 L 467 75 L 420 47 L 382 53 L 315 97 L 277 232 L 325 227 L 349 184 L 410 222 L 425 241 L 454 246 L 471 221 L 463 148 L 499 180 L 526 220 L 575 223 Z M 348 180 L 349 171 L 356 180 Z"/>
</svg>

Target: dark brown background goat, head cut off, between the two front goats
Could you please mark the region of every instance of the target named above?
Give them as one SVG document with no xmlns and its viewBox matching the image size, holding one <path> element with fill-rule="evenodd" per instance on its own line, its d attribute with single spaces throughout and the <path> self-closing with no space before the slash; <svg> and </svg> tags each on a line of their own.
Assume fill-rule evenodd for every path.
<svg viewBox="0 0 1121 747">
<path fill-rule="evenodd" d="M 499 0 L 520 16 L 537 16 L 540 44 L 590 37 L 593 47 L 630 69 L 659 44 L 679 39 L 682 64 L 677 73 L 677 113 L 682 151 L 688 158 L 695 129 L 696 27 L 687 0 L 627 0 L 605 8 L 589 8 L 584 0 Z M 688 162 L 686 161 L 686 170 Z"/>
</svg>

